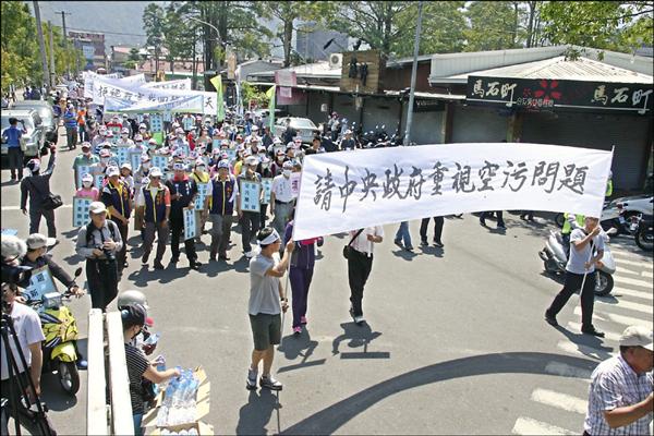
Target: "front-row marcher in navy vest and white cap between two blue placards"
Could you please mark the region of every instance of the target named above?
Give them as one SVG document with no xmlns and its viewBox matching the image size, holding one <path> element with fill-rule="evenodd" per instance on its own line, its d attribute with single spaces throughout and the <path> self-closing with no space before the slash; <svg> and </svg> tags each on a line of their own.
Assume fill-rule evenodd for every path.
<svg viewBox="0 0 654 436">
<path fill-rule="evenodd" d="M 211 178 L 207 186 L 205 198 L 205 217 L 211 222 L 211 245 L 209 261 L 216 261 L 216 255 L 221 261 L 228 261 L 227 246 L 231 234 L 234 214 L 234 202 L 239 193 L 237 178 L 229 172 L 229 162 L 220 160 L 217 165 L 217 174 Z"/>
</svg>

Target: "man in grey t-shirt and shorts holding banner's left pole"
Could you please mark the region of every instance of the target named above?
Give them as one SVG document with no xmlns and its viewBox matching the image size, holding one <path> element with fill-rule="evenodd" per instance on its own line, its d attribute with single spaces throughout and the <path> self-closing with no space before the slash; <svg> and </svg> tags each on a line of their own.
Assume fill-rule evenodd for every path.
<svg viewBox="0 0 654 436">
<path fill-rule="evenodd" d="M 288 299 L 283 294 L 280 277 L 289 266 L 289 259 L 295 245 L 289 241 L 281 262 L 276 263 L 274 253 L 279 252 L 281 238 L 271 227 L 265 227 L 256 237 L 261 252 L 250 261 L 250 302 L 249 314 L 254 350 L 252 363 L 247 371 L 247 389 L 256 389 L 258 364 L 264 361 L 264 373 L 259 379 L 262 388 L 281 390 L 282 385 L 270 375 L 274 346 L 281 340 L 281 311 L 288 308 Z M 281 301 L 281 304 L 280 304 Z"/>
</svg>

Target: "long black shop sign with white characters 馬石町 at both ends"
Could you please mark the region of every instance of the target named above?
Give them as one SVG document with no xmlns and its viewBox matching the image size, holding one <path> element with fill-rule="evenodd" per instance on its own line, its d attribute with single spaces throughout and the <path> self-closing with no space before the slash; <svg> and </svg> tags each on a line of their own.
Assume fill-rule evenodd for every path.
<svg viewBox="0 0 654 436">
<path fill-rule="evenodd" d="M 530 110 L 583 108 L 652 112 L 652 84 L 469 76 L 467 101 Z"/>
</svg>

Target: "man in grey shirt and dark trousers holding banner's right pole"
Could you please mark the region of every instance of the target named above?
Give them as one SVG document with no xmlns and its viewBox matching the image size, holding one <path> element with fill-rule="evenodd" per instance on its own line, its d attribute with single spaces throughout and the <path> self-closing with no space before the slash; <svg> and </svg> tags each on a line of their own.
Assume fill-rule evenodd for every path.
<svg viewBox="0 0 654 436">
<path fill-rule="evenodd" d="M 586 217 L 583 229 L 574 229 L 570 234 L 570 258 L 566 266 L 566 283 L 545 311 L 545 320 L 558 326 L 556 315 L 578 289 L 581 290 L 581 332 L 603 338 L 604 332 L 593 326 L 595 303 L 595 264 L 604 256 L 604 239 L 600 234 L 600 220 Z M 594 256 L 593 256 L 594 254 Z M 584 281 L 585 277 L 585 281 Z"/>
</svg>

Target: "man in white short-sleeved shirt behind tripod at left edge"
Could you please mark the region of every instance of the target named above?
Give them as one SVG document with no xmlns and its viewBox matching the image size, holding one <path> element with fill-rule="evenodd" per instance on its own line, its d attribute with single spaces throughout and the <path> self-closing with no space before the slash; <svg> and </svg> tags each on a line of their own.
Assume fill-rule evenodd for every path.
<svg viewBox="0 0 654 436">
<path fill-rule="evenodd" d="M 57 435 L 51 422 L 40 405 L 40 374 L 43 365 L 41 341 L 46 338 L 41 330 L 38 314 L 23 304 L 17 282 L 24 277 L 25 268 L 20 267 L 21 258 L 27 252 L 24 241 L 12 235 L 2 235 L 2 336 L 1 342 L 1 384 L 2 420 L 0 433 L 9 434 L 10 414 L 20 435 L 23 425 L 31 434 Z M 9 343 L 9 352 L 7 343 Z M 8 355 L 9 354 L 9 355 Z M 11 359 L 9 358 L 11 356 Z M 23 359 L 24 358 L 24 359 Z M 15 362 L 15 366 L 12 365 Z M 23 363 L 24 362 L 24 363 Z M 11 365 L 11 367 L 10 367 Z M 37 411 L 25 408 L 38 404 Z M 7 400 L 7 408 L 4 401 Z"/>
</svg>

